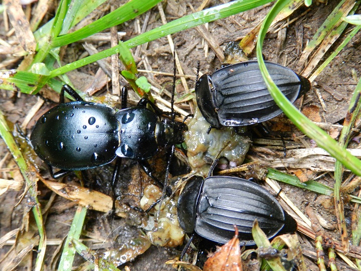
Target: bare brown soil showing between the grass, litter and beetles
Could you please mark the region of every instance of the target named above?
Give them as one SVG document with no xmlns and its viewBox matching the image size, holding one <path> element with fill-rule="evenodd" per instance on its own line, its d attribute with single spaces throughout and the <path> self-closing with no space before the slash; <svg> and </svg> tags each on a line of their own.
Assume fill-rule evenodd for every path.
<svg viewBox="0 0 361 271">
<path fill-rule="evenodd" d="M 314 1 L 315 2 L 315 1 Z M 121 3 L 118 1 L 110 2 L 111 5 L 118 7 Z M 264 50 L 263 54 L 265 60 L 276 62 L 282 65 L 285 65 L 296 72 L 301 72 L 302 69 L 307 65 L 307 63 L 298 63 L 302 50 L 305 48 L 306 44 L 310 41 L 313 35 L 316 33 L 317 29 L 321 26 L 333 8 L 338 4 L 338 1 L 328 1 L 328 3 L 313 3 L 311 9 L 307 9 L 306 7 L 299 8 L 296 12 L 294 12 L 288 19 L 283 21 L 292 22 L 285 28 L 285 38 L 283 40 L 283 44 L 281 47 L 278 46 L 280 40 L 280 35 L 277 33 L 269 33 L 264 42 Z M 177 19 L 183 15 L 191 14 L 192 10 L 190 6 L 193 6 L 197 9 L 201 5 L 201 1 L 192 0 L 190 2 L 180 3 L 174 0 L 168 0 L 167 5 L 164 7 L 164 13 L 166 16 L 166 20 L 168 22 Z M 211 0 L 207 7 L 213 7 L 216 5 L 220 5 L 217 1 Z M 226 19 L 218 20 L 213 23 L 209 23 L 208 31 L 213 39 L 218 43 L 220 48 L 224 48 L 228 42 L 230 41 L 240 41 L 245 35 L 247 35 L 257 24 L 259 24 L 267 14 L 270 5 L 266 5 L 266 7 L 260 7 L 242 14 L 238 14 Z M 103 11 L 109 11 L 109 4 L 103 5 Z M 307 11 L 307 12 L 306 12 Z M 98 15 L 99 16 L 99 15 Z M 140 27 L 143 26 L 144 20 L 147 14 L 143 14 L 139 16 L 136 20 L 132 20 L 130 22 L 126 22 L 121 26 L 117 27 L 118 32 L 125 32 L 126 35 L 122 38 L 123 41 L 128 40 L 132 37 L 138 35 L 137 29 L 135 26 L 138 24 Z M 146 31 L 150 29 L 157 28 L 162 25 L 161 20 L 158 15 L 157 8 L 153 8 L 148 12 L 149 21 L 146 25 Z M 295 19 L 295 21 L 293 21 Z M 0 24 L 4 25 L 3 18 L 0 19 Z M 346 36 L 351 27 L 347 27 L 342 34 L 342 37 Z M 105 31 L 105 32 L 108 32 Z M 6 40 L 4 28 L 0 28 L 0 37 Z M 176 34 L 171 35 L 173 42 L 176 47 L 176 52 L 179 56 L 180 64 L 183 68 L 183 71 L 186 75 L 190 75 L 191 78 L 187 78 L 187 84 L 190 89 L 195 86 L 195 76 L 197 74 L 197 62 L 200 62 L 200 72 L 202 74 L 208 73 L 211 74 L 215 71 L 216 68 L 221 66 L 220 60 L 216 57 L 216 54 L 209 49 L 208 53 L 205 53 L 205 42 L 200 35 L 200 33 L 196 29 L 190 29 L 186 31 L 182 31 Z M 361 74 L 361 66 L 360 64 L 360 53 L 359 53 L 359 45 L 361 41 L 361 33 L 356 34 L 355 37 L 351 40 L 351 42 L 338 54 L 338 56 L 332 61 L 330 65 L 328 65 L 319 76 L 316 77 L 315 81 L 312 82 L 314 86 L 312 90 L 306 93 L 303 97 L 302 102 L 298 101 L 298 105 L 308 112 L 308 116 L 316 122 L 325 122 L 325 123 L 338 123 L 342 124 L 342 120 L 346 115 L 347 107 L 349 104 L 349 100 L 354 91 L 356 81 L 352 77 L 352 74 L 356 75 Z M 107 49 L 110 47 L 109 42 L 91 42 L 94 46 L 97 47 L 99 51 Z M 336 41 L 332 47 L 330 48 L 330 52 L 332 52 L 338 45 L 339 41 Z M 135 61 L 138 63 L 138 69 L 149 70 L 151 68 L 153 71 L 160 72 L 168 72 L 172 73 L 173 71 L 173 62 L 171 50 L 169 49 L 168 40 L 166 37 L 160 38 L 158 40 L 149 42 L 145 45 L 138 48 L 133 48 L 132 52 L 135 56 Z M 85 49 L 83 48 L 81 43 L 76 45 L 69 45 L 64 51 L 63 62 L 69 63 L 78 59 L 83 53 Z M 327 53 L 323 60 L 329 55 Z M 255 57 L 255 52 L 252 52 L 249 55 L 249 58 L 252 59 Z M 3 59 L 5 59 L 3 57 Z M 144 63 L 148 63 L 148 65 L 144 66 Z M 6 69 L 16 69 L 16 65 L 9 65 Z M 86 86 L 91 85 L 94 75 L 99 69 L 99 65 L 97 63 L 90 64 L 88 66 L 82 67 L 77 70 L 77 72 L 72 72 L 69 74 L 69 78 L 73 82 L 74 86 L 81 89 L 82 91 L 86 91 Z M 145 75 L 150 82 L 155 82 L 157 85 L 166 86 L 166 89 L 171 91 L 171 76 L 163 76 L 153 73 L 141 73 L 141 75 Z M 121 84 L 123 79 L 121 81 Z M 105 90 L 102 93 L 97 93 L 97 96 L 107 95 L 109 96 L 109 92 L 111 92 L 111 84 L 105 86 L 103 84 L 102 89 Z M 322 97 L 324 105 L 321 104 L 319 97 L 317 96 L 316 91 L 318 91 L 319 96 Z M 49 90 L 43 90 L 42 94 L 47 98 L 53 99 L 53 101 L 57 101 L 58 97 L 49 96 Z M 185 89 L 182 84 L 177 84 L 176 87 L 176 96 L 180 97 L 185 93 Z M 0 90 L 0 108 L 4 112 L 8 122 L 10 123 L 10 127 L 13 128 L 12 123 L 22 123 L 24 121 L 25 116 L 30 111 L 32 106 L 37 102 L 37 97 L 27 94 L 20 94 L 9 92 L 6 90 Z M 169 100 L 169 97 L 163 95 L 164 99 Z M 135 100 L 137 98 L 134 98 Z M 26 134 L 29 135 L 34 125 L 36 119 L 44 113 L 49 108 L 53 107 L 56 103 L 47 101 L 42 106 L 40 112 L 34 116 L 32 121 L 27 125 Z M 119 105 L 118 105 L 119 106 Z M 183 109 L 191 112 L 191 106 L 189 104 L 180 105 Z M 284 123 L 283 127 L 282 124 Z M 268 121 L 266 123 L 268 128 L 271 130 L 271 134 L 273 137 L 280 139 L 280 135 L 286 139 L 286 141 L 292 141 L 295 135 L 301 135 L 299 132 L 287 118 L 282 114 L 278 116 L 276 119 Z M 287 127 L 287 128 L 285 128 Z M 337 136 L 337 135 L 336 135 Z M 255 135 L 257 138 L 257 135 Z M 24 142 L 20 137 L 17 137 L 19 144 Z M 314 146 L 314 143 L 310 141 L 308 138 L 304 138 L 304 140 L 311 146 Z M 6 145 L 3 141 L 0 140 L 0 154 L 2 157 L 1 165 L 2 168 L 12 168 L 15 167 L 11 160 L 11 156 L 8 153 Z M 287 145 L 288 146 L 288 145 Z M 254 144 L 252 148 L 259 147 L 257 144 Z M 253 149 L 252 153 L 251 148 L 251 156 L 256 156 L 258 151 Z M 359 148 L 358 143 L 353 143 L 352 148 Z M 26 155 L 28 155 L 29 150 L 24 150 Z M 277 153 L 278 152 L 278 153 Z M 282 147 L 276 150 L 278 155 L 282 153 Z M 47 171 L 43 167 L 42 162 L 34 156 L 30 156 L 32 161 L 35 161 L 37 165 L 41 165 L 40 174 L 44 177 L 47 177 Z M 130 177 L 130 170 L 133 167 L 137 167 L 135 161 L 125 160 L 123 159 L 122 165 L 122 175 L 120 176 L 119 181 L 119 190 L 128 185 Z M 93 170 L 89 173 L 91 176 L 89 179 L 92 180 L 89 183 L 89 180 L 85 180 L 85 184 L 87 187 L 91 189 L 103 192 L 105 194 L 109 194 L 109 176 L 112 174 L 113 165 L 105 166 L 104 168 Z M 285 168 L 278 168 L 280 170 L 287 170 Z M 325 172 L 313 172 L 313 177 L 321 176 L 317 179 L 318 182 L 321 182 L 329 187 L 333 187 L 333 176 L 331 173 Z M 345 174 L 345 178 L 347 178 L 349 173 Z M 19 171 L 12 172 L 1 172 L 1 178 L 10 179 L 10 178 L 21 178 L 19 176 Z M 87 178 L 86 178 L 87 179 Z M 78 178 L 75 175 L 70 175 L 65 178 L 63 182 L 70 182 L 73 184 L 78 183 Z M 307 205 L 311 205 L 314 209 L 327 221 L 336 221 L 336 217 L 333 213 L 333 208 L 324 208 L 320 202 L 323 202 L 318 198 L 318 195 L 304 191 L 297 187 L 280 184 L 283 188 L 283 192 L 290 198 L 290 200 L 301 210 L 304 212 L 305 207 Z M 52 192 L 47 189 L 45 186 L 38 183 L 39 190 L 39 199 L 43 206 L 47 204 L 47 202 L 52 197 Z M 118 191 L 119 191 L 118 190 Z M 20 191 L 8 191 L 5 194 L 0 196 L 0 236 L 4 236 L 11 230 L 19 228 L 22 224 L 22 217 L 24 210 L 29 209 L 29 203 L 26 202 L 25 199 L 21 200 L 21 195 L 24 193 L 24 188 Z M 17 208 L 14 209 L 14 206 L 18 204 Z M 132 201 L 133 202 L 133 201 Z M 137 202 L 137 201 L 136 201 Z M 135 204 L 135 203 L 132 203 Z M 350 210 L 352 210 L 352 205 L 345 203 L 346 212 L 346 221 L 348 225 L 348 230 L 350 231 Z M 66 234 L 69 230 L 69 225 L 74 216 L 74 213 L 77 209 L 77 205 L 73 202 L 70 202 L 62 197 L 56 196 L 55 200 L 50 208 L 49 213 L 46 216 L 46 229 L 47 229 L 47 238 L 48 240 L 63 240 L 66 237 Z M 142 219 L 143 214 L 139 215 L 139 218 Z M 139 233 L 141 233 L 141 229 L 139 225 L 135 225 L 133 220 L 129 219 L 111 219 L 109 217 L 104 216 L 103 213 L 97 211 L 88 211 L 87 213 L 87 222 L 85 224 L 84 229 L 89 235 L 96 235 L 97 237 L 106 239 L 106 243 L 104 245 L 86 243 L 92 249 L 99 249 L 99 252 L 104 252 L 107 248 L 116 248 L 121 244 L 130 241 L 131 239 L 136 238 Z M 330 234 L 339 240 L 339 235 L 335 231 L 330 231 Z M 37 239 L 37 236 L 33 236 L 32 238 Z M 303 249 L 307 251 L 314 251 L 314 248 L 310 245 L 310 239 L 307 240 L 303 234 L 300 233 L 299 239 L 301 240 Z M 110 240 L 110 241 L 108 241 Z M 48 245 L 46 252 L 46 265 L 50 269 L 50 266 L 54 264 L 54 257 L 56 259 L 56 255 L 58 254 L 57 249 L 59 242 L 57 245 Z M 11 246 L 9 244 L 3 246 L 0 250 L 0 260 L 3 259 L 6 252 L 9 250 Z M 165 261 L 175 258 L 179 256 L 180 251 L 183 246 L 178 246 L 175 248 L 169 247 L 155 247 L 151 246 L 147 251 L 143 254 L 136 257 L 135 260 L 126 263 L 125 265 L 130 267 L 130 270 L 172 270 L 173 267 L 171 265 L 164 264 Z M 314 254 L 307 254 L 307 257 L 311 259 L 309 261 L 309 268 L 315 269 L 315 256 Z M 36 253 L 32 254 L 33 260 L 36 258 Z M 18 269 L 26 268 L 25 266 L 31 266 L 29 262 L 24 262 L 18 266 Z M 76 257 L 76 262 L 74 266 L 79 266 L 83 262 L 83 258 L 80 256 Z M 337 263 L 339 264 L 339 263 Z M 2 265 L 2 263 L 0 263 Z M 121 266 L 123 269 L 124 265 Z M 339 270 L 347 269 L 349 266 L 338 265 Z M 251 267 L 250 267 L 251 268 Z M 252 268 L 249 270 L 253 270 Z M 349 270 L 349 269 L 348 269 Z"/>
</svg>

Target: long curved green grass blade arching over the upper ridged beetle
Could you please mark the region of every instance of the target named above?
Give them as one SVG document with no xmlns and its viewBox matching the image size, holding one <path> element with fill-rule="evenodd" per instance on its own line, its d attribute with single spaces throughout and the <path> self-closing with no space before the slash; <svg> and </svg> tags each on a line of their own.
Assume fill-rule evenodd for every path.
<svg viewBox="0 0 361 271">
<path fill-rule="evenodd" d="M 278 1 L 266 16 L 260 29 L 259 40 L 257 43 L 257 58 L 263 79 L 265 80 L 267 88 L 277 105 L 303 133 L 305 133 L 309 138 L 313 139 L 319 147 L 327 151 L 332 157 L 339 160 L 346 168 L 351 170 L 356 175 L 361 176 L 361 161 L 349 154 L 347 151 L 343 150 L 326 132 L 324 132 L 313 122 L 311 122 L 305 115 L 299 112 L 298 109 L 278 89 L 266 69 L 264 60 L 262 58 L 263 41 L 267 29 L 272 23 L 272 20 L 287 4 L 288 1 Z"/>
</svg>

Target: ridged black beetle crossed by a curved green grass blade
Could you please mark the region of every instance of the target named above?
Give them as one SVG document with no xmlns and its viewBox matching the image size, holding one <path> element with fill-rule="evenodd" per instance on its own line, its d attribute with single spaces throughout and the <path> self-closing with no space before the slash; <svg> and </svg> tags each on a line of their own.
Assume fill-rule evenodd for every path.
<svg viewBox="0 0 361 271">
<path fill-rule="evenodd" d="M 265 61 L 271 78 L 294 102 L 306 93 L 309 80 L 289 68 Z M 214 127 L 244 126 L 271 119 L 282 112 L 270 95 L 257 61 L 224 66 L 196 83 L 198 107 Z"/>
</svg>

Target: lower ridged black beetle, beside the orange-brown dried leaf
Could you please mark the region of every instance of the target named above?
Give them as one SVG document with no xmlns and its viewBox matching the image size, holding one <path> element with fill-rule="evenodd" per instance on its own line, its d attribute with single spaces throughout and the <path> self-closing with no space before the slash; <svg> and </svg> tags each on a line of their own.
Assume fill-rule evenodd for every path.
<svg viewBox="0 0 361 271">
<path fill-rule="evenodd" d="M 191 178 L 179 196 L 177 213 L 187 233 L 196 232 L 218 243 L 232 239 L 236 225 L 241 244 L 255 244 L 255 219 L 268 238 L 297 228 L 296 221 L 265 188 L 237 177 Z"/>
</svg>

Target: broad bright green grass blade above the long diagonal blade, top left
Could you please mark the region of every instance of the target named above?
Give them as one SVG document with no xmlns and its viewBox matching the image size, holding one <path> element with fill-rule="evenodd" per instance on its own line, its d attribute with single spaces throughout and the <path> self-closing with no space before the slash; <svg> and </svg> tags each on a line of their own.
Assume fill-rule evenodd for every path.
<svg viewBox="0 0 361 271">
<path fill-rule="evenodd" d="M 153 8 L 158 2 L 160 2 L 160 0 L 131 0 L 90 25 L 87 25 L 73 33 L 55 38 L 52 43 L 52 47 L 61 47 L 79 41 L 95 33 L 134 19 L 138 15 Z"/>
</svg>

